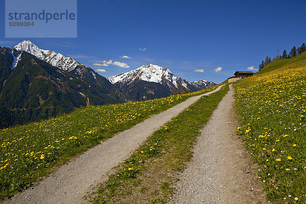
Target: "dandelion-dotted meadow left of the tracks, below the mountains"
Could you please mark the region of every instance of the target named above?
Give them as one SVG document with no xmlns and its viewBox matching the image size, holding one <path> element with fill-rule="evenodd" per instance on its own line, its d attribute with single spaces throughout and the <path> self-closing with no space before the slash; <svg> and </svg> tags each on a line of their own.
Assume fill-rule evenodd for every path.
<svg viewBox="0 0 306 204">
<path fill-rule="evenodd" d="M 149 115 L 217 86 L 135 103 L 83 107 L 56 118 L 0 130 L 0 198 L 31 186 L 54 166 Z"/>
</svg>

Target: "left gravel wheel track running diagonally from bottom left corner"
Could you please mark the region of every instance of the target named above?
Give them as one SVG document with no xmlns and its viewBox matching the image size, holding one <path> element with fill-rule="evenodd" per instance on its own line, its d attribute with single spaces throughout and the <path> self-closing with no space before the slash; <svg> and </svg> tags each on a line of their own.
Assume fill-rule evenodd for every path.
<svg viewBox="0 0 306 204">
<path fill-rule="evenodd" d="M 220 90 L 203 94 L 208 95 Z M 83 196 L 98 183 L 107 181 L 106 175 L 113 167 L 131 156 L 141 143 L 153 132 L 170 121 L 184 109 L 195 103 L 200 96 L 194 96 L 160 114 L 136 124 L 129 130 L 116 134 L 87 150 L 45 177 L 33 188 L 16 194 L 4 203 L 82 203 Z"/>
</svg>

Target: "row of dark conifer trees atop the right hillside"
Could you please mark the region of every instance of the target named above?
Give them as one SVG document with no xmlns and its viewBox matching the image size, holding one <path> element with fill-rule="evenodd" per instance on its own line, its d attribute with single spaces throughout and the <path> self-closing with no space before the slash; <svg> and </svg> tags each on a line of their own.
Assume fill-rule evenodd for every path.
<svg viewBox="0 0 306 204">
<path fill-rule="evenodd" d="M 276 60 L 280 59 L 291 59 L 294 58 L 302 53 L 306 52 L 306 45 L 303 43 L 300 47 L 296 48 L 295 46 L 292 47 L 290 50 L 290 53 L 287 54 L 286 49 L 284 49 L 283 55 L 277 54 L 272 60 L 269 56 L 266 57 L 265 60 L 262 61 L 261 64 L 259 64 L 259 70 L 270 64 L 271 62 L 274 62 Z"/>
</svg>

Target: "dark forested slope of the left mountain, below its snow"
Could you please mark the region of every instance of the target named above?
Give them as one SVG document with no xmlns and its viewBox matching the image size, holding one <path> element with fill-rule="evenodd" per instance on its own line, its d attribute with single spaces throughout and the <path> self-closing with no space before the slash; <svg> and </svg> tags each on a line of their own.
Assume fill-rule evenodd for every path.
<svg viewBox="0 0 306 204">
<path fill-rule="evenodd" d="M 21 49 L 0 47 L 0 115 L 5 116 L 0 120 L 0 128 L 15 125 L 16 121 L 37 121 L 71 112 L 86 106 L 87 97 L 92 105 L 126 101 L 120 97 L 126 94 L 106 78 L 81 77 L 74 72 L 80 65 L 68 71 L 48 62 Z"/>
</svg>

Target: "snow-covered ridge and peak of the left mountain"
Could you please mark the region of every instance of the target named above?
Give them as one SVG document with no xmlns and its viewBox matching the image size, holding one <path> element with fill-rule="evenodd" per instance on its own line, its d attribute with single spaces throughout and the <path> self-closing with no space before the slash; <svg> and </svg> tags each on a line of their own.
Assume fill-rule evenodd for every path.
<svg viewBox="0 0 306 204">
<path fill-rule="evenodd" d="M 73 71 L 80 77 L 84 77 L 88 72 L 92 77 L 96 79 L 94 71 L 80 62 L 74 60 L 71 57 L 66 57 L 60 53 L 56 53 L 50 50 L 40 49 L 30 40 L 24 40 L 13 47 L 16 50 L 28 52 L 40 60 L 43 60 L 53 66 L 56 66 L 65 71 Z"/>
</svg>

